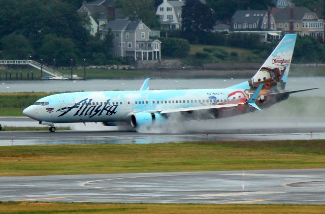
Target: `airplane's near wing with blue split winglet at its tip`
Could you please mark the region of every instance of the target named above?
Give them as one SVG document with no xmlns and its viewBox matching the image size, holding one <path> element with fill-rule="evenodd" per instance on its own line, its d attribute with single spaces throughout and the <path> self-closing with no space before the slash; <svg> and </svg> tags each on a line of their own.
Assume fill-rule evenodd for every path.
<svg viewBox="0 0 325 214">
<path fill-rule="evenodd" d="M 176 108 L 176 109 L 166 109 L 155 111 L 160 114 L 167 114 L 167 113 L 174 113 L 174 112 L 184 112 L 184 111 L 197 111 L 197 110 L 208 110 L 208 109 L 218 109 L 218 108 L 230 108 L 230 107 L 237 107 L 239 105 L 251 105 L 257 110 L 261 110 L 256 104 L 255 101 L 259 95 L 259 92 L 262 90 L 264 84 L 260 84 L 259 87 L 256 89 L 254 94 L 250 97 L 250 99 L 245 103 L 235 103 L 235 104 L 224 104 L 224 105 L 211 105 L 211 106 L 197 106 L 197 107 L 188 107 L 188 108 Z"/>
</svg>

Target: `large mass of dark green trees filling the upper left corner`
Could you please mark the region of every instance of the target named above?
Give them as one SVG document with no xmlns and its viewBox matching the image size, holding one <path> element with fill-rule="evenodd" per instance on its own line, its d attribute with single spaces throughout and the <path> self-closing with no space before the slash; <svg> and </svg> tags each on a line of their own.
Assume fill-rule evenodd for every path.
<svg viewBox="0 0 325 214">
<path fill-rule="evenodd" d="M 113 59 L 112 41 L 90 36 L 89 20 L 77 12 L 81 1 L 63 0 L 0 0 L 0 58 L 43 59 L 45 64 L 69 66 L 71 59 L 81 64 Z M 99 48 L 101 47 L 101 48 Z M 55 61 L 53 61 L 55 59 Z M 98 62 L 96 62 L 98 63 Z M 83 62 L 82 62 L 83 64 Z"/>
</svg>

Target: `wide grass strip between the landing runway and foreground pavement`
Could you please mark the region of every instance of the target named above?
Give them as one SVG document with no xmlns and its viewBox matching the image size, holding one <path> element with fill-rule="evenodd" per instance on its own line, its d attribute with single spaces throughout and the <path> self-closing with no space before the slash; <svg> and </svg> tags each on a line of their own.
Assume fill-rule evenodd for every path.
<svg viewBox="0 0 325 214">
<path fill-rule="evenodd" d="M 2 146 L 0 150 L 0 176 L 324 166 L 324 140 Z"/>
</svg>

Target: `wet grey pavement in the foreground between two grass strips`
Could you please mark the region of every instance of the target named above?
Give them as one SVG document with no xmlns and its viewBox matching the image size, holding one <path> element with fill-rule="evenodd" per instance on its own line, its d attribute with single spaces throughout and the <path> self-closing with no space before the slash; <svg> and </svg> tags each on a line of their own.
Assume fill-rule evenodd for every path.
<svg viewBox="0 0 325 214">
<path fill-rule="evenodd" d="M 1 201 L 325 204 L 325 169 L 0 177 Z"/>
</svg>

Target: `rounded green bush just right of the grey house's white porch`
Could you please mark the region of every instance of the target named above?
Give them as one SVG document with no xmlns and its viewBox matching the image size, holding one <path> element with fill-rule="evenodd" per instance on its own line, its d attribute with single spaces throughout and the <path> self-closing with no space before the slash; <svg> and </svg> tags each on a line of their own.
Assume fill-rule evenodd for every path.
<svg viewBox="0 0 325 214">
<path fill-rule="evenodd" d="M 187 40 L 182 38 L 160 38 L 161 53 L 171 57 L 186 57 L 190 51 Z"/>
</svg>

